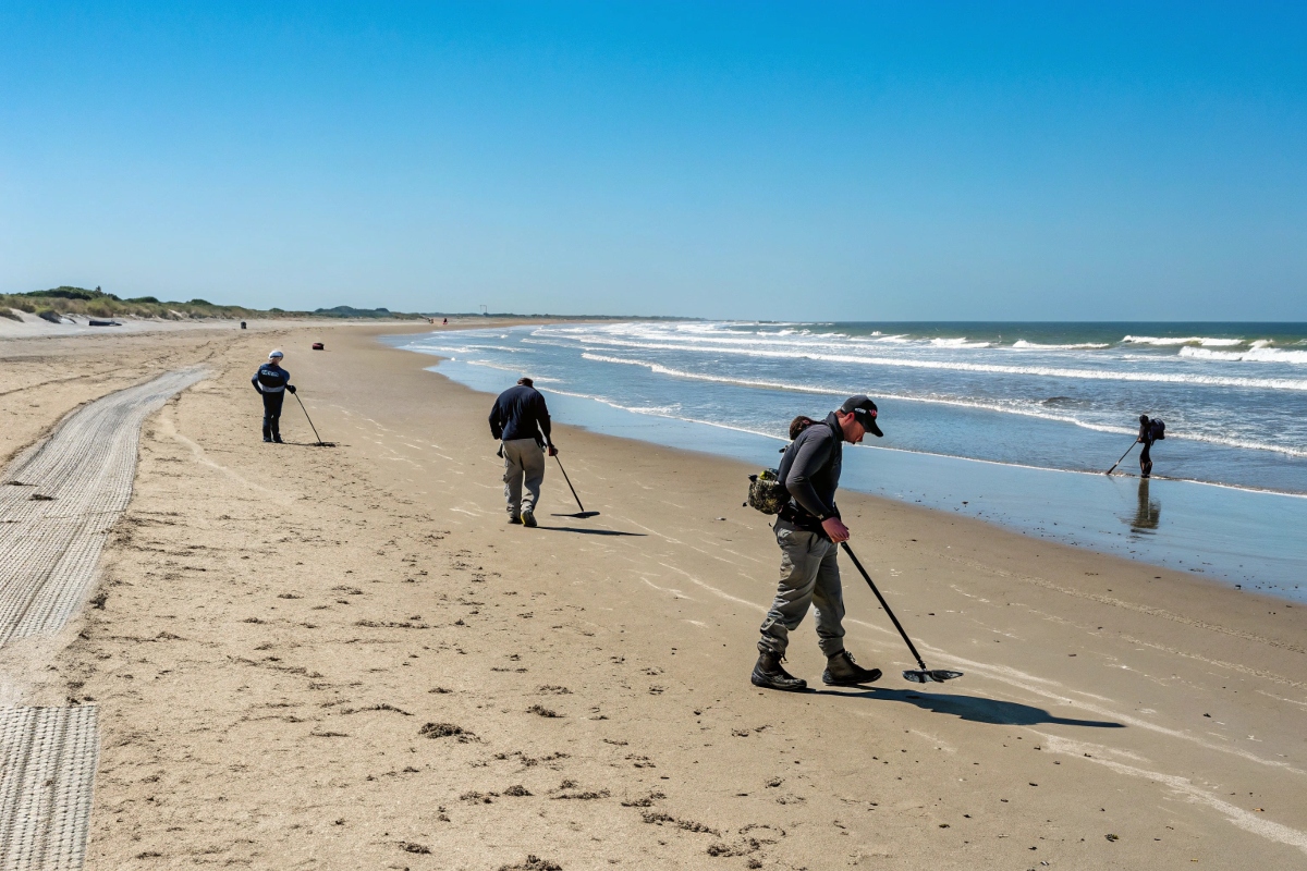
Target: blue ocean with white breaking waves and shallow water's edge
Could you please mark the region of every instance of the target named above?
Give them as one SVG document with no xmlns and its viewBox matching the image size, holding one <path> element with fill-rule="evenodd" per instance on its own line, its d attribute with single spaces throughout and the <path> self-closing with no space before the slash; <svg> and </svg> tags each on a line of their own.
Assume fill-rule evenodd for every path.
<svg viewBox="0 0 1307 871">
<path fill-rule="evenodd" d="M 886 436 L 847 454 L 846 487 L 1307 586 L 1307 324 L 640 321 L 395 343 L 477 389 L 531 375 L 569 423 L 766 465 L 796 414 L 867 393 Z M 1140 414 L 1167 424 L 1154 479 L 1104 477 Z"/>
</svg>

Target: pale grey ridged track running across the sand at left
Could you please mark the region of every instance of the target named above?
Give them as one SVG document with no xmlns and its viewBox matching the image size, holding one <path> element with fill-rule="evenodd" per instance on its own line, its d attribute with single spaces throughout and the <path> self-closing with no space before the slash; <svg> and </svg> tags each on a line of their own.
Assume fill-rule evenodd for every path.
<svg viewBox="0 0 1307 871">
<path fill-rule="evenodd" d="M 5 471 L 0 649 L 56 635 L 81 606 L 132 498 L 141 424 L 203 377 L 179 370 L 82 406 Z M 0 706 L 0 868 L 82 866 L 98 744 L 94 706 Z"/>
</svg>

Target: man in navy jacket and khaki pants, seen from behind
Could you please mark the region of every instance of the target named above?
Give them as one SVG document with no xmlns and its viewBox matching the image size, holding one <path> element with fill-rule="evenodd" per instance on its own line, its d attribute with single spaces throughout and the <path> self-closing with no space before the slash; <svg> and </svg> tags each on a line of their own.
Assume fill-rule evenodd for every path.
<svg viewBox="0 0 1307 871">
<path fill-rule="evenodd" d="M 549 435 L 549 407 L 529 377 L 518 379 L 490 409 L 490 435 L 499 439 L 503 457 L 503 498 L 508 522 L 536 525 L 540 483 L 545 479 L 545 451 L 558 453 Z M 527 484 L 527 495 L 521 486 Z"/>
</svg>

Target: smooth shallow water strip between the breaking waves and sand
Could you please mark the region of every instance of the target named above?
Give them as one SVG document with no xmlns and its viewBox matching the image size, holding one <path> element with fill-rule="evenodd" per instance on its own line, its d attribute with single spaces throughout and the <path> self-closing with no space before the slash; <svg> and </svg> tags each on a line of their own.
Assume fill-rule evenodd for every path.
<svg viewBox="0 0 1307 871">
<path fill-rule="evenodd" d="M 443 354 L 413 351 L 404 346 L 404 340 L 387 343 L 433 359 L 431 371 L 474 389 L 490 389 L 490 384 L 499 380 L 490 372 L 501 367 L 460 363 Z M 554 402 L 558 406 L 555 419 L 574 420 L 595 432 L 634 436 L 646 444 L 689 448 L 762 466 L 775 465 L 774 448 L 762 444 L 775 445 L 778 439 L 767 434 L 715 422 L 643 414 L 589 394 L 550 390 L 544 380 L 540 388 L 546 396 L 565 397 Z M 720 435 L 712 435 L 714 431 Z M 980 517 L 996 529 L 1031 541 L 1053 538 L 1077 548 L 1125 556 L 1145 565 L 1217 578 L 1230 589 L 1256 589 L 1280 599 L 1307 602 L 1300 571 L 1304 556 L 1300 543 L 1291 534 L 1294 526 L 1307 524 L 1307 504 L 1300 499 L 1249 501 L 1268 495 L 1294 494 L 1221 484 L 1202 488 L 1206 482 L 1166 477 L 1145 482 L 1136 475 L 1108 478 L 1098 473 L 868 447 L 880 448 L 884 454 L 876 456 L 874 451 L 865 454 L 847 452 L 846 491 L 891 498 L 899 504 L 925 503 L 946 516 Z M 1061 471 L 1072 474 L 1056 477 Z M 1196 484 L 1199 490 L 1189 490 Z M 1162 505 L 1159 528 L 1136 528 L 1134 517 L 1141 509 L 1136 505 L 1136 494 L 1125 494 L 1124 487 L 1138 490 L 1138 500 L 1145 500 L 1146 491 L 1145 501 L 1153 505 L 1153 511 L 1145 524 L 1158 522 L 1155 505 Z"/>
</svg>

